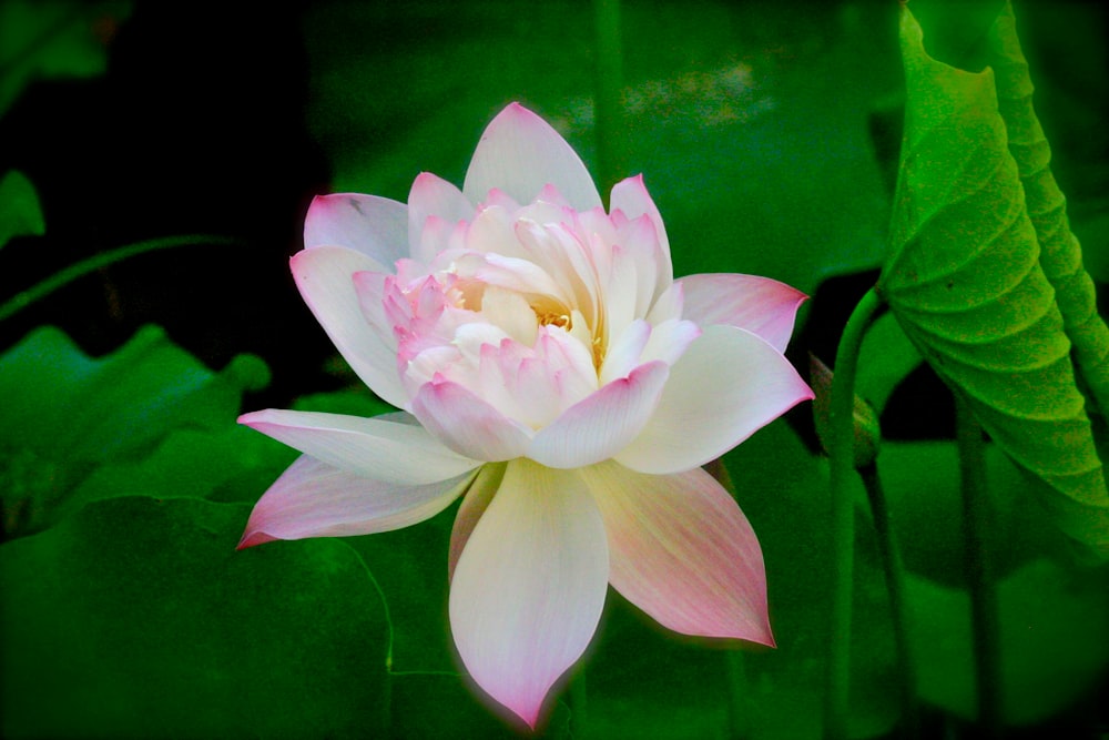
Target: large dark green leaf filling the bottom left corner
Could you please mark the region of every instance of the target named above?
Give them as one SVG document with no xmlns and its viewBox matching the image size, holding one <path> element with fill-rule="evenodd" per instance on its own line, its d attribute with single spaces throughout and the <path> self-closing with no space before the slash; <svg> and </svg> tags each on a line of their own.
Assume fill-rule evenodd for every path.
<svg viewBox="0 0 1109 740">
<path fill-rule="evenodd" d="M 335 539 L 236 551 L 247 511 L 114 498 L 0 547 L 3 736 L 378 736 L 365 566 Z"/>
</svg>

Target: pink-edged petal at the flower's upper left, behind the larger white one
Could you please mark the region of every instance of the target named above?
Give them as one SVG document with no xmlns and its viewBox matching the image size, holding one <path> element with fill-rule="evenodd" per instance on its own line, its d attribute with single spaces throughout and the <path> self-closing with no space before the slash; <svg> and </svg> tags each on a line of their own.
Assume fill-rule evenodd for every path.
<svg viewBox="0 0 1109 740">
<path fill-rule="evenodd" d="M 384 272 L 408 256 L 408 209 L 377 195 L 317 195 L 304 217 L 304 246 L 345 246 L 378 263 Z"/>
</svg>

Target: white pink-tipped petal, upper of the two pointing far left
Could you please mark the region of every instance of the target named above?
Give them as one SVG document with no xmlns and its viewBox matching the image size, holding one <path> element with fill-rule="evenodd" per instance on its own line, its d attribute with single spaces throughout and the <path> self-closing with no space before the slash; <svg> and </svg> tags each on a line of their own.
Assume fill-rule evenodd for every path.
<svg viewBox="0 0 1109 740">
<path fill-rule="evenodd" d="M 437 483 L 479 465 L 419 425 L 381 417 L 269 408 L 244 414 L 238 423 L 324 463 L 394 485 Z"/>
</svg>

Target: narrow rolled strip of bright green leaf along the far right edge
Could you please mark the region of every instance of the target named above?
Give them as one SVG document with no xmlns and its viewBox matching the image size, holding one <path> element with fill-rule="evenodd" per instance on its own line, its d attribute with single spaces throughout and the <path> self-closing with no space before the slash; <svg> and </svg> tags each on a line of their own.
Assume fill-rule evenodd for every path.
<svg viewBox="0 0 1109 740">
<path fill-rule="evenodd" d="M 1070 231 L 1067 200 L 1051 174 L 1051 146 L 1032 108 L 1032 82 L 1020 50 L 1013 6 L 1007 1 L 990 27 L 988 61 L 998 109 L 1017 162 L 1028 215 L 1040 243 L 1040 265 L 1056 291 L 1078 369 L 1102 415 L 1109 415 L 1109 328 L 1098 315 L 1093 281 L 1082 266 L 1082 247 Z"/>
</svg>

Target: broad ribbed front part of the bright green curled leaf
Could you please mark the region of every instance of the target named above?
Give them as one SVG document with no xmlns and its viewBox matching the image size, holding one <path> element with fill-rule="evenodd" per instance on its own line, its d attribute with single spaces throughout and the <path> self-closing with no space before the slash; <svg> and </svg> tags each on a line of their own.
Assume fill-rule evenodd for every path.
<svg viewBox="0 0 1109 740">
<path fill-rule="evenodd" d="M 902 16 L 908 92 L 878 287 L 925 359 L 990 436 L 1050 485 L 1040 500 L 1109 553 L 1109 495 L 1070 343 L 997 111 L 994 74 L 932 59 Z"/>
</svg>

